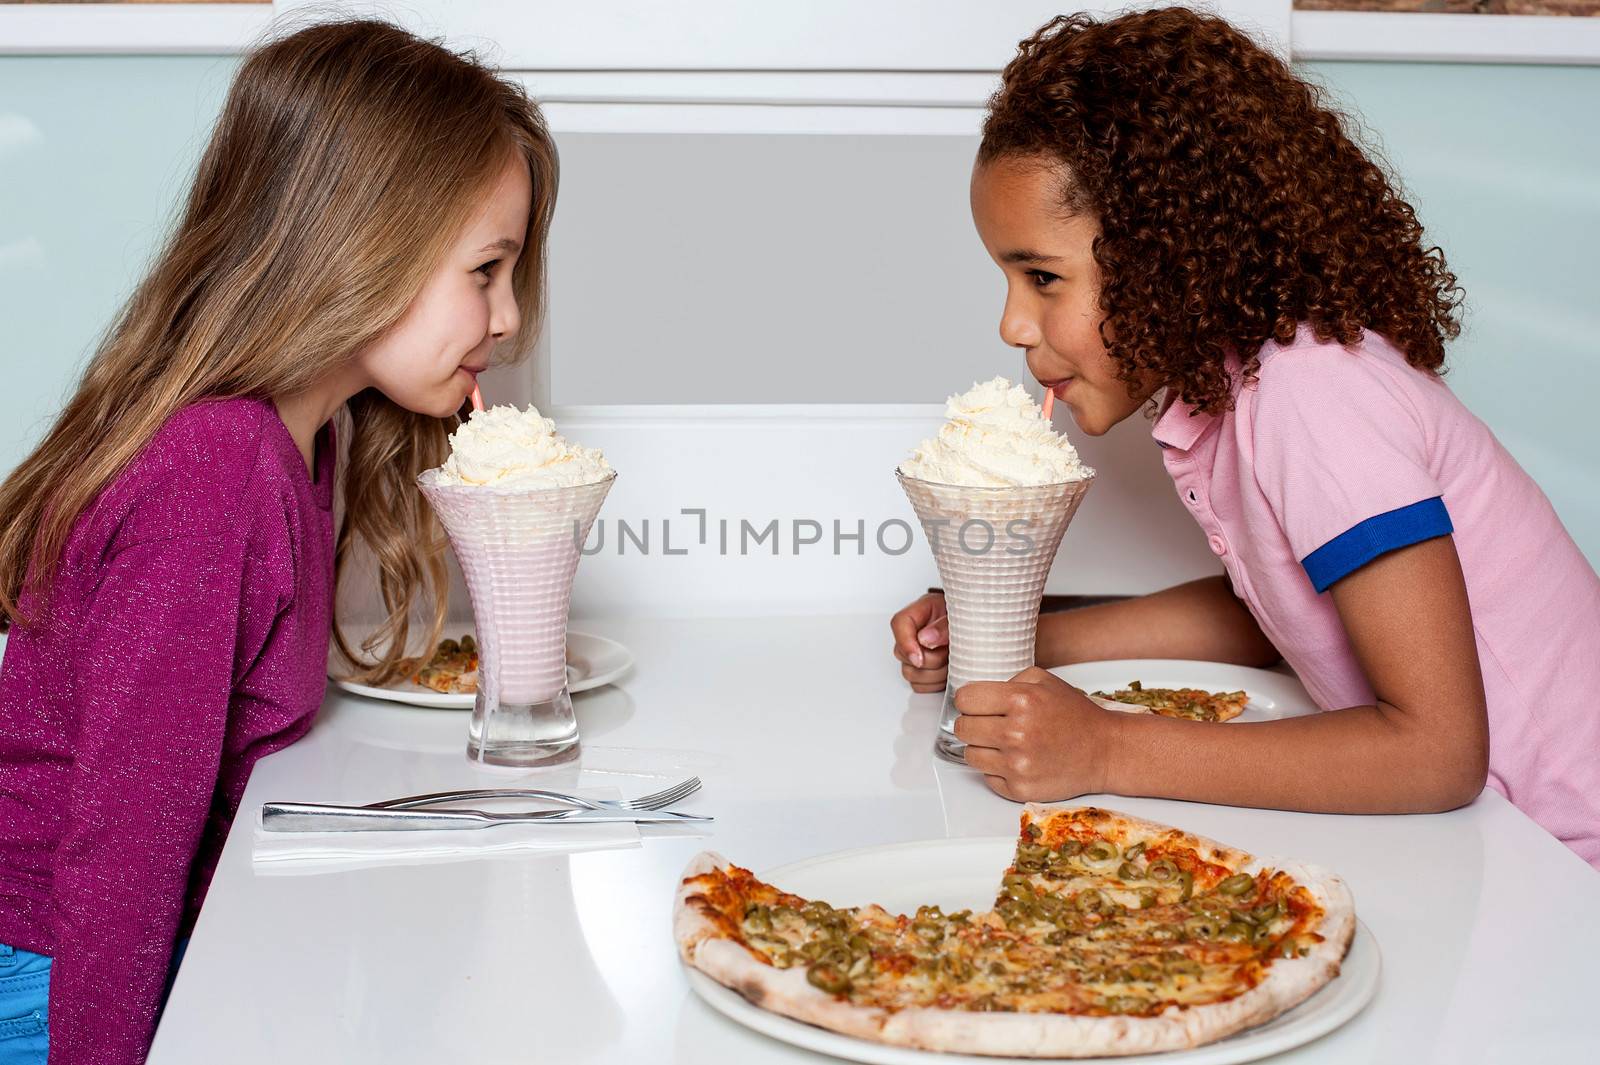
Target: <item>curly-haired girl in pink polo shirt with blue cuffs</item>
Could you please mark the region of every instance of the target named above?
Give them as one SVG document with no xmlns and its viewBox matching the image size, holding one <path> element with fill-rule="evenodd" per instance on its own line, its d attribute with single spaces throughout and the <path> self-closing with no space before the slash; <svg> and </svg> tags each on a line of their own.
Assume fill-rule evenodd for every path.
<svg viewBox="0 0 1600 1065">
<path fill-rule="evenodd" d="M 1098 708 L 1045 668 L 955 697 L 1016 800 L 1443 811 L 1488 782 L 1600 864 L 1600 579 L 1445 387 L 1461 293 L 1322 93 L 1184 8 L 1066 16 L 990 102 L 973 217 L 1002 337 L 1099 435 L 1152 435 L 1226 577 L 1040 619 L 1038 667 L 1280 657 L 1333 713 Z M 944 604 L 894 616 L 941 688 Z"/>
</svg>

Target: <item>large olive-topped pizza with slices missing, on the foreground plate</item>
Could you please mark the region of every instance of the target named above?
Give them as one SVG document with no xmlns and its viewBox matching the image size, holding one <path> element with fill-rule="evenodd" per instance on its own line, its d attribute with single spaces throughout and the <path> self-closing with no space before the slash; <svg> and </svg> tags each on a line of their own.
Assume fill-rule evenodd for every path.
<svg viewBox="0 0 1600 1065">
<path fill-rule="evenodd" d="M 1202 1046 L 1339 974 L 1344 881 L 1093 806 L 1029 804 L 990 910 L 834 907 L 718 854 L 685 870 L 683 961 L 750 1003 L 878 1043 L 1008 1057 Z"/>
</svg>

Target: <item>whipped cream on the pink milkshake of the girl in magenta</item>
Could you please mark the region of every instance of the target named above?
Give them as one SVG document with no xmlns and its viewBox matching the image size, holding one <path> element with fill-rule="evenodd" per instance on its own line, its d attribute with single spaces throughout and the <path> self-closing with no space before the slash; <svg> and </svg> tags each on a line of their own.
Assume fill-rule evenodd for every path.
<svg viewBox="0 0 1600 1065">
<path fill-rule="evenodd" d="M 538 408 L 491 406 L 474 411 L 450 433 L 450 457 L 435 483 L 571 488 L 610 475 L 611 464 L 600 451 L 568 443 Z"/>
</svg>

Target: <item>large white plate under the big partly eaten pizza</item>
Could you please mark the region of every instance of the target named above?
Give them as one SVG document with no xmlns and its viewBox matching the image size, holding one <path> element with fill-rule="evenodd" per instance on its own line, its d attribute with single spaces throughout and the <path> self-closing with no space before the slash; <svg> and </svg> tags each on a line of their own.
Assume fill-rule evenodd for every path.
<svg viewBox="0 0 1600 1065">
<path fill-rule="evenodd" d="M 1154 683 L 1154 681 L 1152 681 Z M 973 840 L 928 840 L 898 843 L 861 851 L 843 851 L 795 862 L 762 873 L 762 880 L 784 891 L 811 899 L 826 899 L 837 907 L 877 902 L 890 913 L 915 913 L 920 903 L 938 903 L 944 911 L 987 910 L 1000 886 L 1000 872 L 1011 864 L 1016 840 L 984 836 Z M 1240 1031 L 1221 1043 L 1192 1051 L 1139 1054 L 1134 1057 L 1070 1059 L 1104 1065 L 1230 1065 L 1253 1062 L 1333 1031 L 1373 999 L 1378 991 L 1381 961 L 1378 940 L 1360 921 L 1355 939 L 1338 977 L 1294 1009 L 1270 1022 Z M 742 995 L 725 988 L 706 974 L 688 969 L 690 987 L 717 1012 L 760 1031 L 762 1035 L 808 1051 L 832 1054 L 851 1062 L 872 1065 L 1003 1065 L 1040 1059 L 982 1057 L 971 1054 L 939 1054 L 899 1046 L 869 1043 L 826 1028 L 782 1017 L 752 1006 Z"/>
</svg>

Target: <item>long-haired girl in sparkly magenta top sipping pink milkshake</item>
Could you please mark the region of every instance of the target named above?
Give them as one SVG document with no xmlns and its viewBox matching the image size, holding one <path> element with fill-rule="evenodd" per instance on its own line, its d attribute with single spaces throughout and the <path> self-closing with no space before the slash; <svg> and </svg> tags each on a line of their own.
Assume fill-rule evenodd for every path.
<svg viewBox="0 0 1600 1065">
<path fill-rule="evenodd" d="M 0 1062 L 141 1062 L 254 763 L 306 734 L 355 544 L 405 668 L 416 475 L 538 329 L 555 147 L 522 88 L 382 22 L 240 69 L 187 206 L 0 486 Z M 334 536 L 334 424 L 344 518 Z"/>
</svg>

